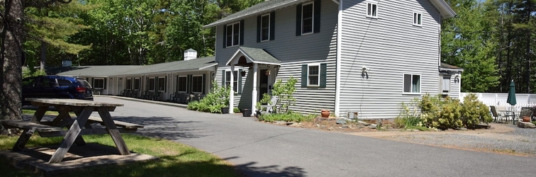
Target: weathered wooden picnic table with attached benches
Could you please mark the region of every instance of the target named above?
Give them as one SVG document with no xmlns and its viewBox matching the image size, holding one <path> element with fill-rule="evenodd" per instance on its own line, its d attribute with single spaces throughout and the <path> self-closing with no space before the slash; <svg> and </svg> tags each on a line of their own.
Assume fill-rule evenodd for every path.
<svg viewBox="0 0 536 177">
<path fill-rule="evenodd" d="M 130 152 L 121 137 L 121 132 L 135 132 L 142 125 L 130 124 L 127 122 L 114 121 L 110 111 L 119 103 L 101 103 L 96 101 L 85 101 L 77 99 L 57 99 L 57 98 L 26 98 L 32 105 L 38 106 L 33 118 L 28 122 L 24 120 L 2 120 L 2 125 L 7 128 L 21 128 L 23 132 L 13 146 L 12 151 L 22 151 L 33 132 L 39 132 L 41 137 L 64 137 L 60 147 L 56 149 L 49 163 L 62 161 L 67 151 L 73 143 L 78 145 L 86 144 L 82 135 L 109 134 L 115 142 L 121 155 L 128 155 Z M 43 116 L 49 108 L 55 108 L 59 113 L 52 121 L 43 121 Z M 76 118 L 71 118 L 69 112 L 74 112 Z M 91 117 L 93 111 L 99 112 L 101 118 Z M 100 122 L 106 128 L 94 128 L 91 123 Z M 121 128 L 118 128 L 120 126 Z M 67 127 L 66 130 L 64 127 Z"/>
</svg>

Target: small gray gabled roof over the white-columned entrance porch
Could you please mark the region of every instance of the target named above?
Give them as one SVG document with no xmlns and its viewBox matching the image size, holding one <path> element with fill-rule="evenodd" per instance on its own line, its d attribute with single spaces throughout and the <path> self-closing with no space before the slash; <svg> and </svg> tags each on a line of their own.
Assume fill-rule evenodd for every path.
<svg viewBox="0 0 536 177">
<path fill-rule="evenodd" d="M 247 59 L 247 63 L 257 63 L 257 64 L 272 64 L 272 65 L 281 65 L 281 61 L 276 59 L 274 56 L 270 55 L 268 52 L 263 49 L 251 48 L 251 47 L 238 47 L 238 50 L 235 52 L 233 57 L 225 63 L 229 65 L 233 62 L 233 59 L 236 59 L 236 63 L 240 62 L 237 58 L 237 55 L 242 53 Z"/>
</svg>

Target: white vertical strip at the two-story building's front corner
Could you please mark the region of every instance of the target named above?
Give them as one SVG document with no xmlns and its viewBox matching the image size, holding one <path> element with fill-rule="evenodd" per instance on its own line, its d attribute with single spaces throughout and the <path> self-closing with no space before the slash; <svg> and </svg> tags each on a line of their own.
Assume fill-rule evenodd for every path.
<svg viewBox="0 0 536 177">
<path fill-rule="evenodd" d="M 335 66 L 335 116 L 340 116 L 340 66 L 342 47 L 342 0 L 339 2 L 339 13 L 337 14 L 337 58 Z"/>
</svg>

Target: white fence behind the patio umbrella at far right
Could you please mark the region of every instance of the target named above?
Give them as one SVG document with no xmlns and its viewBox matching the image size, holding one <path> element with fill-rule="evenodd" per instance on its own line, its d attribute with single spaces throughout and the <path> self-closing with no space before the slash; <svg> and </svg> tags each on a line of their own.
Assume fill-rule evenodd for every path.
<svg viewBox="0 0 536 177">
<path fill-rule="evenodd" d="M 536 94 L 530 93 L 515 93 L 515 105 L 506 103 L 508 93 L 475 93 L 479 101 L 486 105 L 508 105 L 508 110 L 513 110 L 516 115 L 519 115 L 523 107 L 536 106 Z M 469 93 L 459 93 L 459 100 L 464 101 L 464 97 Z"/>
</svg>

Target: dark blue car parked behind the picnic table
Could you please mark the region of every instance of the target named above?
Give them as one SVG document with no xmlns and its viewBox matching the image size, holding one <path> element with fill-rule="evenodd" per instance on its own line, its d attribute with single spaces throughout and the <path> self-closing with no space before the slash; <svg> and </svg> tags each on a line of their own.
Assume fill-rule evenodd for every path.
<svg viewBox="0 0 536 177">
<path fill-rule="evenodd" d="M 91 84 L 70 76 L 33 76 L 23 79 L 23 105 L 26 98 L 72 98 L 93 100 Z"/>
</svg>

